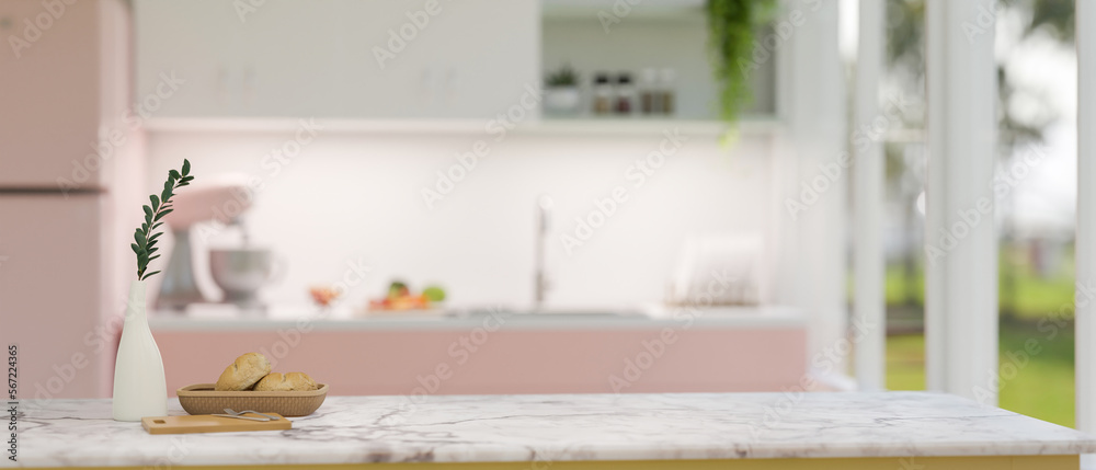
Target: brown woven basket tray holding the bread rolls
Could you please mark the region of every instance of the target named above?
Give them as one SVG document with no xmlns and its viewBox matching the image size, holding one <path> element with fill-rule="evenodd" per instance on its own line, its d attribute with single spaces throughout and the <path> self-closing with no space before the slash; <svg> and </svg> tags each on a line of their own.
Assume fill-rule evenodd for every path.
<svg viewBox="0 0 1096 470">
<path fill-rule="evenodd" d="M 213 383 L 197 383 L 175 390 L 175 394 L 179 396 L 179 404 L 190 414 L 224 413 L 226 408 L 230 408 L 305 416 L 319 409 L 328 397 L 328 385 L 319 386 L 319 389 L 310 391 L 215 391 Z"/>
</svg>

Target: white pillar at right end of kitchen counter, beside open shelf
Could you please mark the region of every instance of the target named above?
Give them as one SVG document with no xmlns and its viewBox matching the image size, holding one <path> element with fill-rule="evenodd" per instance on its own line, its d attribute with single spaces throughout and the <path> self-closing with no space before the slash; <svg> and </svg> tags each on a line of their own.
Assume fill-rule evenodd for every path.
<svg viewBox="0 0 1096 470">
<path fill-rule="evenodd" d="M 792 221 L 786 226 L 799 238 L 797 305 L 810 318 L 812 369 L 823 377 L 845 376 L 850 354 L 844 342 L 850 159 L 846 150 L 845 78 L 837 47 L 837 1 L 792 2 L 791 8 L 798 10 L 797 22 L 801 22 L 791 39 L 788 122 L 798 159 L 794 199 L 804 208 L 789 216 Z"/>
</svg>

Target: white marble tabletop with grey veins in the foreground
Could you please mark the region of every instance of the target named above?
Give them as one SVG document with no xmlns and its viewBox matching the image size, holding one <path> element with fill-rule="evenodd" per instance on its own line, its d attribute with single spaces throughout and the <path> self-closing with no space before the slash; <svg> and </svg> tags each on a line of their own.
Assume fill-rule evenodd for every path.
<svg viewBox="0 0 1096 470">
<path fill-rule="evenodd" d="M 289 431 L 155 436 L 112 421 L 110 400 L 20 408 L 23 467 L 1096 452 L 1096 437 L 926 392 L 330 397 Z"/>
</svg>

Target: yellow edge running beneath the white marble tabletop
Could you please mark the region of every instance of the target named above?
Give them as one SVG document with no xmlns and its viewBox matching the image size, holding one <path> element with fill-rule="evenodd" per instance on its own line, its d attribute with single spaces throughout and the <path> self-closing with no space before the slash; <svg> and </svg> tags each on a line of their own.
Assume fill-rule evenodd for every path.
<svg viewBox="0 0 1096 470">
<path fill-rule="evenodd" d="M 57 467 L 50 467 L 50 469 Z M 73 467 L 66 467 L 72 469 Z M 76 467 L 84 470 L 128 470 L 148 467 Z M 815 459 L 723 459 L 723 460 L 605 460 L 459 463 L 334 463 L 334 465 L 246 465 L 246 466 L 170 466 L 195 470 L 283 470 L 378 469 L 378 470 L 1077 470 L 1080 456 L 984 456 L 984 457 L 884 457 Z"/>
</svg>

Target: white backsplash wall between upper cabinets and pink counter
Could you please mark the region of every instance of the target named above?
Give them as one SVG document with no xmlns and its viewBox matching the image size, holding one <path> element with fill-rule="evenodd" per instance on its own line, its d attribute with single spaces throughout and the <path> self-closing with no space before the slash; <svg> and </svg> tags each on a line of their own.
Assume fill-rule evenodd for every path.
<svg viewBox="0 0 1096 470">
<path fill-rule="evenodd" d="M 455 306 L 528 303 L 541 193 L 556 202 L 549 305 L 660 302 L 686 237 L 765 231 L 774 217 L 765 131 L 745 133 L 730 152 L 711 133 L 692 136 L 639 187 L 627 176 L 629 167 L 659 148 L 657 130 L 526 131 L 501 142 L 476 131 L 321 131 L 274 174 L 263 167 L 264 154 L 289 137 L 242 130 L 149 136 L 150 187 L 183 158 L 196 182 L 222 172 L 262 177 L 251 223 L 256 240 L 288 259 L 284 280 L 264 293 L 278 305 L 304 305 L 308 286 L 338 280 L 358 257 L 373 274 L 350 295 L 355 303 L 379 296 L 393 276 L 416 288 L 442 284 Z M 492 142 L 491 153 L 429 209 L 422 188 L 480 139 Z M 569 256 L 559 232 L 573 233 L 575 217 L 595 210 L 593 200 L 609 197 L 615 186 L 626 188 L 628 200 Z"/>
</svg>

